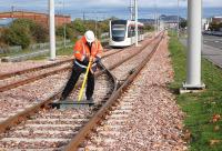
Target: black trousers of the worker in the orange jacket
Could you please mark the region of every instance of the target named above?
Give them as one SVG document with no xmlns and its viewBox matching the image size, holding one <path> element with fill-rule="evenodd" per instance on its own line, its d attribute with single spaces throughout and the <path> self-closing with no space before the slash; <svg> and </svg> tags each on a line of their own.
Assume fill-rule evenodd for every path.
<svg viewBox="0 0 222 151">
<path fill-rule="evenodd" d="M 79 67 L 78 64 L 73 64 L 72 67 L 72 73 L 70 76 L 69 81 L 67 82 L 67 85 L 64 87 L 64 90 L 62 91 L 62 99 L 67 99 L 67 97 L 70 94 L 70 92 L 73 90 L 79 77 L 81 73 L 84 73 L 85 69 Z M 85 95 L 87 99 L 89 100 L 94 91 L 94 74 L 91 73 L 91 71 L 89 71 L 88 74 L 88 80 L 87 80 L 87 91 L 85 91 Z"/>
</svg>

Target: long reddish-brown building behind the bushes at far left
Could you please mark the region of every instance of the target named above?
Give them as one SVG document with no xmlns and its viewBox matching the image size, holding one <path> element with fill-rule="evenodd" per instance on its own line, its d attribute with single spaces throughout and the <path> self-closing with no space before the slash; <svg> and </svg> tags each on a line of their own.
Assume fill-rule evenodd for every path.
<svg viewBox="0 0 222 151">
<path fill-rule="evenodd" d="M 48 13 L 39 13 L 39 12 L 31 12 L 31 11 L 11 11 L 11 12 L 0 12 L 0 19 L 30 19 L 33 20 L 38 23 L 41 23 L 46 27 L 48 27 Z M 70 23 L 71 22 L 71 17 L 70 16 L 60 16 L 56 14 L 54 16 L 54 22 L 56 27 L 60 27 L 64 23 Z"/>
</svg>

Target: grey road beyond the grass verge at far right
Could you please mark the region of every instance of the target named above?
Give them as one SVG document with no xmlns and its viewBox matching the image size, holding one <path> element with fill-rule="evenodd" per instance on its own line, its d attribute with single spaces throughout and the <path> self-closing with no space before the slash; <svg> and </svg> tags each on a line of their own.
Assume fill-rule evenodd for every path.
<svg viewBox="0 0 222 151">
<path fill-rule="evenodd" d="M 186 39 L 180 41 L 186 46 Z M 203 36 L 202 57 L 222 68 L 222 38 Z"/>
</svg>

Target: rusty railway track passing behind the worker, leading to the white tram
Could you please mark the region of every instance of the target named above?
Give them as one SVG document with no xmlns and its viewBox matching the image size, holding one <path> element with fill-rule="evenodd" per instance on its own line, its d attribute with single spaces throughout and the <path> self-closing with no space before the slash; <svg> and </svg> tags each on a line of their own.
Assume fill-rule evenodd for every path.
<svg viewBox="0 0 222 151">
<path fill-rule="evenodd" d="M 103 58 L 108 58 L 115 53 L 123 51 L 122 49 L 115 51 L 105 51 Z M 34 82 L 37 80 L 47 78 L 52 74 L 57 74 L 71 69 L 72 59 L 67 59 L 56 63 L 40 66 L 36 68 L 26 69 L 22 71 L 16 71 L 12 73 L 6 73 L 0 76 L 0 92 L 21 87 Z"/>
</svg>

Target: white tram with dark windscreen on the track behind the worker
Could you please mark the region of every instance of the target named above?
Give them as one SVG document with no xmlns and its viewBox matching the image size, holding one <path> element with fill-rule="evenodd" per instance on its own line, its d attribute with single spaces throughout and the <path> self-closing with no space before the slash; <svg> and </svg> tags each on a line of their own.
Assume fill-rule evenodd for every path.
<svg viewBox="0 0 222 151">
<path fill-rule="evenodd" d="M 144 39 L 143 23 L 138 22 L 138 39 Z M 122 48 L 135 43 L 135 21 L 112 20 L 110 21 L 110 47 Z"/>
</svg>

